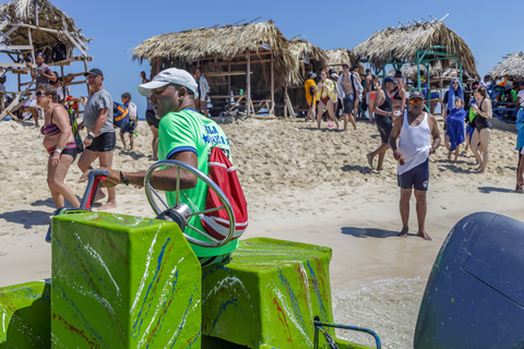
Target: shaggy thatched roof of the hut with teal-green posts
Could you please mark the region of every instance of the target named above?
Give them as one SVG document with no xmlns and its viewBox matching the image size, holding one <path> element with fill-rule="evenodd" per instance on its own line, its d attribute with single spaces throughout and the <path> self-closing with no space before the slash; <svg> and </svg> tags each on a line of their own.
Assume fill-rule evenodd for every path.
<svg viewBox="0 0 524 349">
<path fill-rule="evenodd" d="M 385 28 L 357 45 L 353 49 L 353 53 L 359 58 L 366 58 L 373 67 L 381 68 L 386 62 L 414 62 L 417 50 L 426 50 L 436 46 L 445 47 L 443 52 L 456 57 L 462 62 L 464 70 L 478 75 L 475 58 L 469 47 L 440 21 L 400 28 Z M 436 56 L 426 55 L 425 58 L 430 59 Z M 443 69 L 451 65 L 450 60 L 441 62 Z"/>
</svg>

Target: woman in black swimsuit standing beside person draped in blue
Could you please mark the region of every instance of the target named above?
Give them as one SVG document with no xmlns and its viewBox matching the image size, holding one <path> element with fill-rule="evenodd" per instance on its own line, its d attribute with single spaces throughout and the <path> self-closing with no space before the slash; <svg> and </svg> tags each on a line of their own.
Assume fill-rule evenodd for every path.
<svg viewBox="0 0 524 349">
<path fill-rule="evenodd" d="M 478 105 L 472 105 L 473 111 L 477 113 L 475 117 L 475 132 L 472 135 L 472 152 L 478 161 L 478 167 L 475 171 L 479 173 L 486 170 L 488 165 L 488 145 L 491 137 L 491 100 L 488 97 L 486 87 L 478 87 L 475 92 L 475 100 L 478 100 Z M 480 142 L 480 146 L 478 143 Z M 480 156 L 479 151 L 483 153 Z"/>
</svg>

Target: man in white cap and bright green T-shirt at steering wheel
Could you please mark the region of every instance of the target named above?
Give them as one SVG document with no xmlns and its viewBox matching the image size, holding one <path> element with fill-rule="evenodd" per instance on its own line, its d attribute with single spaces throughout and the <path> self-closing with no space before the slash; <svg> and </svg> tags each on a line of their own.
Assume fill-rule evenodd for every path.
<svg viewBox="0 0 524 349">
<path fill-rule="evenodd" d="M 231 159 L 229 140 L 216 122 L 194 110 L 196 88 L 190 73 L 170 68 L 158 73 L 151 82 L 140 85 L 139 93 L 150 97 L 156 118 L 160 119 L 158 159 L 182 161 L 207 174 L 207 159 L 212 147 L 219 147 Z M 145 170 L 140 172 L 109 170 L 108 181 L 112 184 L 143 185 L 145 173 Z M 81 180 L 86 180 L 86 174 L 84 173 Z M 164 190 L 168 204 L 175 205 L 177 168 L 168 167 L 153 172 L 151 185 Z M 191 208 L 204 209 L 207 184 L 188 171 L 180 171 L 180 189 L 184 193 L 180 195 L 181 202 Z M 189 225 L 205 231 L 198 215 L 189 220 Z M 187 228 L 184 233 L 202 241 L 211 241 L 191 228 Z M 202 266 L 227 262 L 231 251 L 237 246 L 238 239 L 213 249 L 191 244 Z"/>
</svg>

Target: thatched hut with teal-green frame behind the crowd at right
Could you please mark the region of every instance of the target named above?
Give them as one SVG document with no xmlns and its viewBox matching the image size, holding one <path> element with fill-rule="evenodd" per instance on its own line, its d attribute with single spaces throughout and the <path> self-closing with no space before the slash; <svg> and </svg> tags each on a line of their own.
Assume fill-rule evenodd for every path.
<svg viewBox="0 0 524 349">
<path fill-rule="evenodd" d="M 442 19 L 443 20 L 443 19 Z M 385 77 L 385 65 L 392 64 L 395 70 L 402 65 L 413 63 L 417 67 L 417 82 L 420 81 L 421 67 L 426 68 L 427 79 L 430 81 L 430 65 L 440 61 L 442 69 L 452 68 L 453 62 L 460 71 L 462 81 L 463 70 L 478 75 L 475 58 L 466 43 L 445 26 L 442 20 L 432 17 L 431 22 L 409 22 L 408 25 L 389 27 L 374 33 L 369 39 L 357 45 L 353 53 L 368 62 L 377 71 L 382 71 Z M 417 91 L 422 86 L 417 83 Z M 431 99 L 431 88 L 426 88 L 427 100 Z"/>
</svg>

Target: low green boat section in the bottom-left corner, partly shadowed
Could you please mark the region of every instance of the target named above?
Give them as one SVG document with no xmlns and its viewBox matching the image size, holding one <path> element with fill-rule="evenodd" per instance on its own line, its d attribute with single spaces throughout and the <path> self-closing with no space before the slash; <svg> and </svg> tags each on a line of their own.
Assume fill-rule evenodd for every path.
<svg viewBox="0 0 524 349">
<path fill-rule="evenodd" d="M 49 348 L 50 280 L 0 288 L 0 348 Z"/>
</svg>

